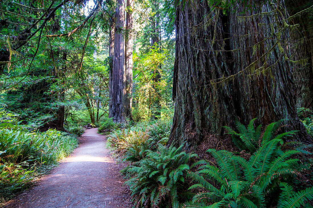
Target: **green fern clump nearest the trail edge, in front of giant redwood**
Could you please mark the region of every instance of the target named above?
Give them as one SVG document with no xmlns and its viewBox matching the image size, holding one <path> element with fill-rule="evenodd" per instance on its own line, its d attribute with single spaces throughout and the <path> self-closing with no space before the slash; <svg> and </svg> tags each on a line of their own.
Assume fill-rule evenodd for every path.
<svg viewBox="0 0 313 208">
<path fill-rule="evenodd" d="M 138 207 L 166 207 L 167 200 L 171 201 L 172 207 L 179 207 L 177 192 L 190 169 L 187 162 L 197 157 L 182 151 L 182 147 L 158 145 L 156 151 L 146 150 L 142 160 L 124 169 L 134 176 L 126 184 L 136 195 Z"/>
</svg>

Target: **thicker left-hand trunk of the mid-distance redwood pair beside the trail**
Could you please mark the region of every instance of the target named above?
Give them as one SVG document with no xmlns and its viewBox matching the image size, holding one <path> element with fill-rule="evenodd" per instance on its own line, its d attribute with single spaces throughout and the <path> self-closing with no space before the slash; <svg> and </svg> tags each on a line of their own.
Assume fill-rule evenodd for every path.
<svg viewBox="0 0 313 208">
<path fill-rule="evenodd" d="M 112 79 L 110 84 L 109 118 L 114 122 L 126 121 L 126 73 L 123 38 L 125 0 L 117 0 L 114 16 L 114 51 L 112 56 Z"/>
</svg>

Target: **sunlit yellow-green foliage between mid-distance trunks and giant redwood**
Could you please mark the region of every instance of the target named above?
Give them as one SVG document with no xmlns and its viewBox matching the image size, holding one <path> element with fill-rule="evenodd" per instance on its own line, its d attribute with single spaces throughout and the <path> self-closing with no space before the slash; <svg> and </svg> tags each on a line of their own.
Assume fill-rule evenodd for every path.
<svg viewBox="0 0 313 208">
<path fill-rule="evenodd" d="M 160 52 L 158 46 L 150 48 L 148 53 L 134 53 L 134 89 L 133 100 L 136 105 L 133 106 L 133 119 L 138 122 L 143 119 L 150 119 L 153 114 L 160 113 L 160 117 L 166 116 L 162 114 L 160 106 L 154 106 L 155 100 L 159 100 L 162 109 L 167 109 L 167 98 L 171 96 L 168 93 L 172 89 L 170 79 L 167 74 L 160 68 L 160 65 L 166 62 L 169 56 L 167 50 Z M 156 76 L 160 76 L 156 82 Z M 164 97 L 164 99 L 162 99 Z M 156 112 L 158 111 L 158 112 Z"/>
</svg>

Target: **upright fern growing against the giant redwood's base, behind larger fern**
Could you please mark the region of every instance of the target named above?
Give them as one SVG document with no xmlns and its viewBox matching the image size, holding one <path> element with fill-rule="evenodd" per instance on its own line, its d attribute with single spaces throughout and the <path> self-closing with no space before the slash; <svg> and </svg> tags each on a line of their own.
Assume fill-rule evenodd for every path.
<svg viewBox="0 0 313 208">
<path fill-rule="evenodd" d="M 276 135 L 275 131 L 281 126 L 282 120 L 270 123 L 266 126 L 264 131 L 262 131 L 261 124 L 257 128 L 254 127 L 254 120 L 255 119 L 252 119 L 247 127 L 239 121 L 236 121 L 236 127 L 239 133 L 235 132 L 228 126 L 224 126 L 224 128 L 228 131 L 228 134 L 231 134 L 233 142 L 239 150 L 247 150 L 254 153 L 260 146 L 273 139 L 283 139 L 297 132 L 288 131 Z"/>
</svg>

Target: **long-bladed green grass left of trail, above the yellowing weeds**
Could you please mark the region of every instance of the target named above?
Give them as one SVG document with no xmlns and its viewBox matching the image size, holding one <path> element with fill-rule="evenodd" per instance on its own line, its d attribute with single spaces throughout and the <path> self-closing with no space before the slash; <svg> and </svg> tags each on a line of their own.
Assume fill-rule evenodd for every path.
<svg viewBox="0 0 313 208">
<path fill-rule="evenodd" d="M 0 131 L 1 162 L 54 163 L 69 155 L 77 146 L 77 139 L 55 129 L 46 132 L 29 133 L 18 129 Z"/>
</svg>

